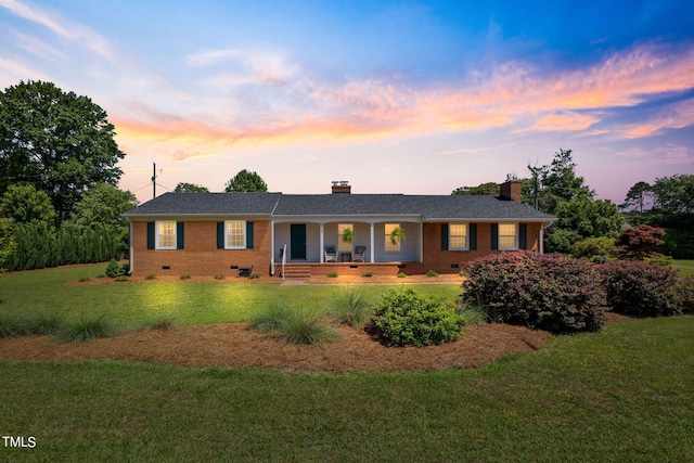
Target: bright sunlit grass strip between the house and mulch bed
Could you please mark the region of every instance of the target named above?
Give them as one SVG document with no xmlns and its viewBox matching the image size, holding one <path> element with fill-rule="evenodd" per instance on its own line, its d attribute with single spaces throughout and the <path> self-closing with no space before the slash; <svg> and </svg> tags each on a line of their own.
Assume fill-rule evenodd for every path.
<svg viewBox="0 0 694 463">
<path fill-rule="evenodd" d="M 0 312 L 31 313 L 55 310 L 66 318 L 104 313 L 119 329 L 131 329 L 162 318 L 177 324 L 248 322 L 259 308 L 287 300 L 307 308 L 322 309 L 339 292 L 338 286 L 280 286 L 269 276 L 264 283 L 245 284 L 232 279 L 197 283 L 124 282 L 94 284 L 106 265 L 79 266 L 0 275 Z M 90 279 L 79 283 L 80 279 Z M 384 285 L 363 285 L 365 296 L 375 301 L 387 291 Z M 421 293 L 458 297 L 458 284 L 417 285 Z"/>
</svg>

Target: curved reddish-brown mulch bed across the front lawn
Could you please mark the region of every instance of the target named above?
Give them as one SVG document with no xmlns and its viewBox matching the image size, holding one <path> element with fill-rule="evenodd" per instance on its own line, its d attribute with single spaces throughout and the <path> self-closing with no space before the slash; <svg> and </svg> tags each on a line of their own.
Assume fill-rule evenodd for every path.
<svg viewBox="0 0 694 463">
<path fill-rule="evenodd" d="M 531 352 L 549 334 L 523 326 L 466 326 L 461 339 L 440 346 L 386 347 L 361 329 L 338 327 L 340 339 L 294 346 L 252 330 L 245 323 L 140 330 L 82 344 L 55 344 L 51 337 L 0 339 L 0 357 L 17 360 L 134 360 L 183 366 L 258 366 L 285 371 L 426 371 L 472 368 L 501 357 Z"/>
</svg>

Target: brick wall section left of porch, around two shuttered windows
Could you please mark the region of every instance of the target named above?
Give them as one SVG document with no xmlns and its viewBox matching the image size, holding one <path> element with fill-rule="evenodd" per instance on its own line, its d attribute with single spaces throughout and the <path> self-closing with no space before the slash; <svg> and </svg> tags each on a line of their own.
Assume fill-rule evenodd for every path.
<svg viewBox="0 0 694 463">
<path fill-rule="evenodd" d="M 236 275 L 232 266 L 254 266 L 254 273 L 270 273 L 270 221 L 254 221 L 253 249 L 217 249 L 216 221 L 184 223 L 184 248 L 169 250 L 147 249 L 147 222 L 133 222 L 133 274 Z"/>
</svg>

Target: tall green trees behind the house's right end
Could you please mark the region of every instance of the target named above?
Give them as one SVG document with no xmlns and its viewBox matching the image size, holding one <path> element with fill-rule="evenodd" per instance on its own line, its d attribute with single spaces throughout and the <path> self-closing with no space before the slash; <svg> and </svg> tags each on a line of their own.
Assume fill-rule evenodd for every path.
<svg viewBox="0 0 694 463">
<path fill-rule="evenodd" d="M 665 229 L 663 254 L 694 258 L 694 176 L 676 175 L 638 182 L 624 204 L 595 200 L 595 192 L 576 173 L 571 150 L 560 149 L 552 163 L 528 165 L 522 181 L 522 203 L 553 215 L 557 221 L 545 232 L 545 250 L 573 254 L 578 245 L 595 237 L 620 236 L 626 228 L 650 226 Z M 499 195 L 499 184 L 461 187 L 451 194 Z"/>
</svg>

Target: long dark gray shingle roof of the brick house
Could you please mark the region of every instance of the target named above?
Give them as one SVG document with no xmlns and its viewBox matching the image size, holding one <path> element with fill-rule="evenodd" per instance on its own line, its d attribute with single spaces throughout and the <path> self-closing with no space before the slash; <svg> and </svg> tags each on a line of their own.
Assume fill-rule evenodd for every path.
<svg viewBox="0 0 694 463">
<path fill-rule="evenodd" d="M 126 217 L 190 215 L 421 216 L 434 219 L 523 219 L 552 216 L 496 196 L 402 194 L 166 193 Z"/>
</svg>

